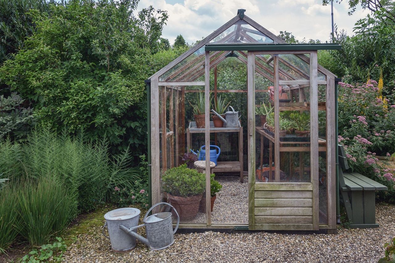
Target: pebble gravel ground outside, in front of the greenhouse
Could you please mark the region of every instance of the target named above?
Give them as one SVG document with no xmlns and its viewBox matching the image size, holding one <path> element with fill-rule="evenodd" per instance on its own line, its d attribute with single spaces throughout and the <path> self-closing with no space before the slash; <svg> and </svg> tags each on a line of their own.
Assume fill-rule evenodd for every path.
<svg viewBox="0 0 395 263">
<path fill-rule="evenodd" d="M 149 251 L 137 242 L 125 254 L 111 252 L 109 240 L 101 234 L 102 225 L 97 224 L 78 236 L 64 258 L 66 262 L 377 262 L 384 256 L 384 242 L 395 236 L 395 205 L 377 205 L 376 220 L 380 228 L 340 228 L 337 235 L 176 234 L 175 243 L 166 250 Z"/>
</svg>

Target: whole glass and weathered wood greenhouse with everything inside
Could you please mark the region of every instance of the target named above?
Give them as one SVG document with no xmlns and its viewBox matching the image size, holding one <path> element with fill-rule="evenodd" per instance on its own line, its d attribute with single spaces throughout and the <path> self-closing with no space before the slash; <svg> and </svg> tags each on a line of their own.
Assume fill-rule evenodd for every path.
<svg viewBox="0 0 395 263">
<path fill-rule="evenodd" d="M 340 45 L 286 44 L 244 12 L 146 81 L 152 205 L 180 228 L 335 232 L 338 79 L 317 50 Z"/>
</svg>

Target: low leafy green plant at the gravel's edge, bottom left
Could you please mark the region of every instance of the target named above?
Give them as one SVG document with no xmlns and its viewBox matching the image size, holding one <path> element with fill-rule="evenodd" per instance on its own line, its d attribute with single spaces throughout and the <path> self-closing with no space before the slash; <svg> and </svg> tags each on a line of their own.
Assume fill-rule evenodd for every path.
<svg viewBox="0 0 395 263">
<path fill-rule="evenodd" d="M 60 237 L 56 237 L 53 244 L 42 245 L 40 250 L 33 249 L 26 254 L 21 262 L 23 263 L 40 263 L 46 261 L 61 262 L 63 253 L 66 251 L 66 244 Z M 59 254 L 60 253 L 60 254 Z"/>
</svg>

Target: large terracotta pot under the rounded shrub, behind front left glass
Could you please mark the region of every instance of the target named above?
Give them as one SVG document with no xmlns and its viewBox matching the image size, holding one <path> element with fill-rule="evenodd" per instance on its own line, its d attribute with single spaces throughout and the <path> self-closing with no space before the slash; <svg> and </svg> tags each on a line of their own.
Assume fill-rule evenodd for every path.
<svg viewBox="0 0 395 263">
<path fill-rule="evenodd" d="M 180 220 L 190 220 L 198 214 L 201 194 L 197 196 L 172 196 L 167 194 L 167 200 L 177 210 Z M 173 212 L 172 212 L 173 213 Z"/>
</svg>

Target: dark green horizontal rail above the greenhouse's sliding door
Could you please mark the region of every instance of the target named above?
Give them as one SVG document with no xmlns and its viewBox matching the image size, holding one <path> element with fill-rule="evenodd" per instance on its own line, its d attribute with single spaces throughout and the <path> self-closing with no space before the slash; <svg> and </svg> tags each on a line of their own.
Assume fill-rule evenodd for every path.
<svg viewBox="0 0 395 263">
<path fill-rule="evenodd" d="M 342 46 L 337 43 L 320 43 L 320 44 L 207 44 L 205 51 L 292 51 L 292 50 L 328 50 L 341 49 Z"/>
</svg>

